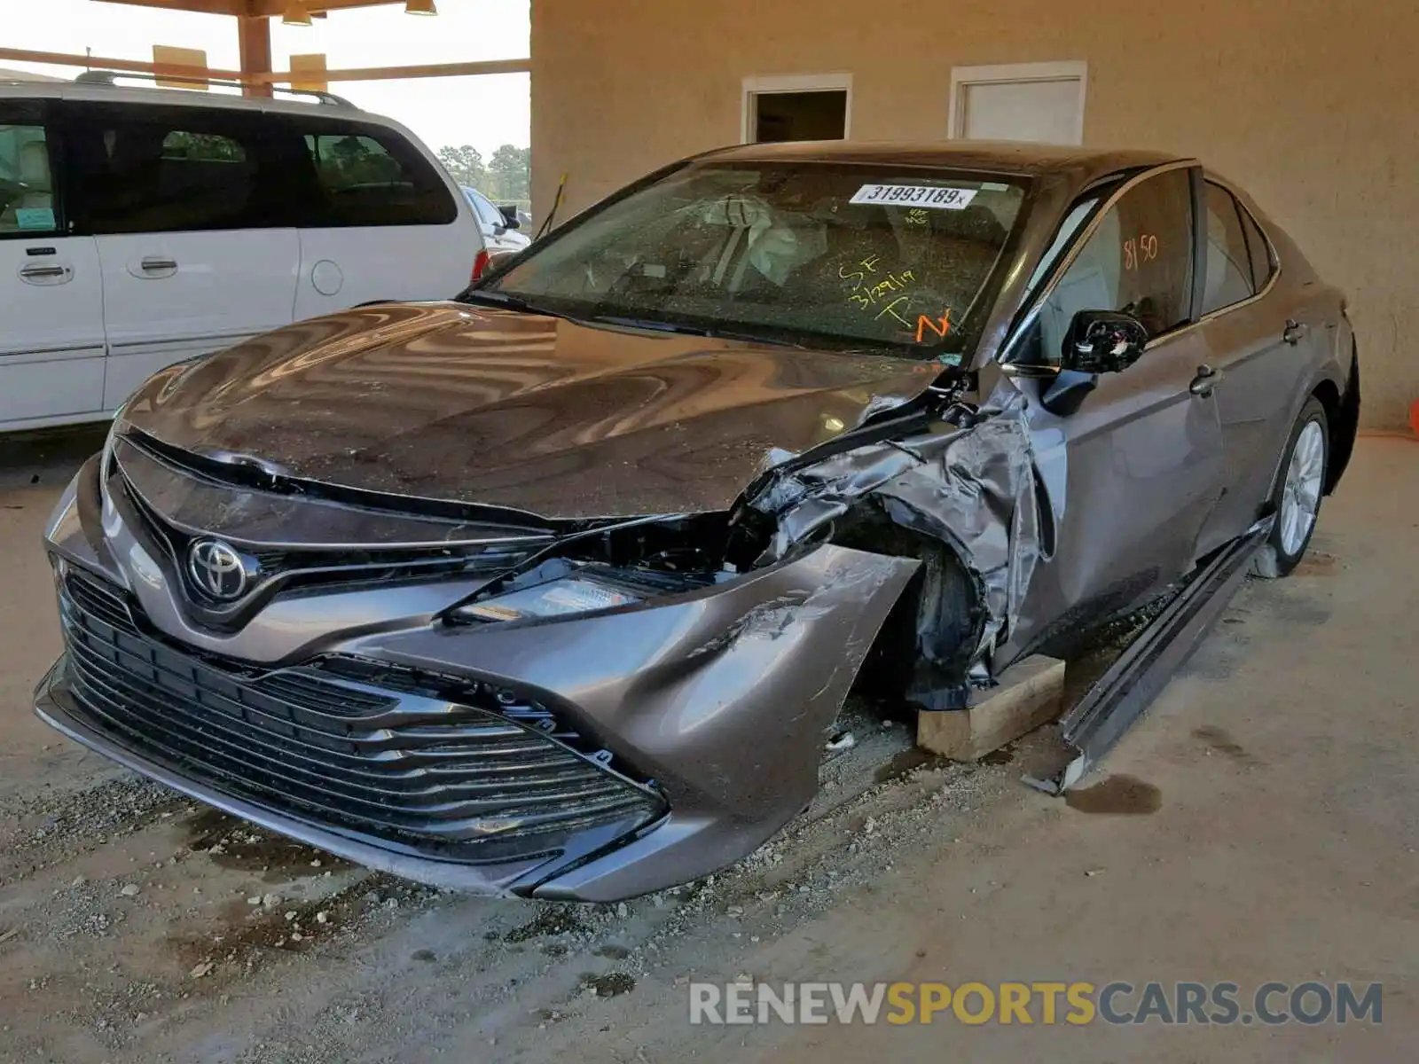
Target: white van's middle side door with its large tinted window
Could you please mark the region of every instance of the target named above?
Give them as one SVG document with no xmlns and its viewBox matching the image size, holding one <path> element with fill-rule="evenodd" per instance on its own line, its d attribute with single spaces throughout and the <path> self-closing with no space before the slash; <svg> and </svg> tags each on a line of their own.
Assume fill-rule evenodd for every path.
<svg viewBox="0 0 1419 1064">
<path fill-rule="evenodd" d="M 299 240 L 258 112 L 68 102 L 71 187 L 104 275 L 104 407 L 152 373 L 289 325 Z"/>
</svg>

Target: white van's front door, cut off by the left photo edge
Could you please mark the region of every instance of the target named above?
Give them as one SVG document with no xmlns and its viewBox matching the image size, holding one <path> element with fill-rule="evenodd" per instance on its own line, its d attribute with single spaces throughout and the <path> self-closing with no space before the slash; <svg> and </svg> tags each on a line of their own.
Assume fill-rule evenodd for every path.
<svg viewBox="0 0 1419 1064">
<path fill-rule="evenodd" d="M 102 410 L 98 253 L 68 234 L 48 108 L 0 101 L 0 431 Z"/>
</svg>

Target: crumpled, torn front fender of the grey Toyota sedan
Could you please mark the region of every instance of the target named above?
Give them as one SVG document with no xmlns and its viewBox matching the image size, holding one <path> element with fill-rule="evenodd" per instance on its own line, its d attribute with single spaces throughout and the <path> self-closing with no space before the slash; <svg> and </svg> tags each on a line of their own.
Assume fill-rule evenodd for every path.
<svg viewBox="0 0 1419 1064">
<path fill-rule="evenodd" d="M 922 663 L 908 697 L 927 709 L 965 705 L 968 682 L 988 684 L 989 655 L 1016 621 L 1040 559 L 1026 400 L 1000 392 L 965 427 L 905 436 L 833 454 L 772 481 L 751 506 L 776 522 L 761 562 L 782 558 L 864 508 L 939 543 L 966 577 L 927 556 L 918 644 Z M 961 592 L 979 604 L 962 631 Z M 962 637 L 969 641 L 962 645 Z M 969 674 L 969 681 L 968 681 Z"/>
</svg>

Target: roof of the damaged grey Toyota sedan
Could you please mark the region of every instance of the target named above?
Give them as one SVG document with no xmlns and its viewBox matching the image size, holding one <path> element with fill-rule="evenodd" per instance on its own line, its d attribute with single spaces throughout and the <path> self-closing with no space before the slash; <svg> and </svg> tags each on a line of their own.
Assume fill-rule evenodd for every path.
<svg viewBox="0 0 1419 1064">
<path fill-rule="evenodd" d="M 942 166 L 995 173 L 1043 174 L 1051 172 L 1111 173 L 1181 162 L 1186 156 L 1111 148 L 1073 148 L 1010 140 L 793 140 L 753 143 L 711 152 L 731 162 L 841 162 Z"/>
</svg>

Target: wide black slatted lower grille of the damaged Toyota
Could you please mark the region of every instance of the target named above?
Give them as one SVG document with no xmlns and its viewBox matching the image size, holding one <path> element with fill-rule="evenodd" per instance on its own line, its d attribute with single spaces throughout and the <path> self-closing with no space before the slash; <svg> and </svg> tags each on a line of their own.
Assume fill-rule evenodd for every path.
<svg viewBox="0 0 1419 1064">
<path fill-rule="evenodd" d="M 475 863 L 552 853 L 592 830 L 609 841 L 664 813 L 653 790 L 492 706 L 184 653 L 75 569 L 60 614 L 91 725 L 280 813 Z M 485 698 L 495 705 L 485 688 L 468 701 Z"/>
</svg>

